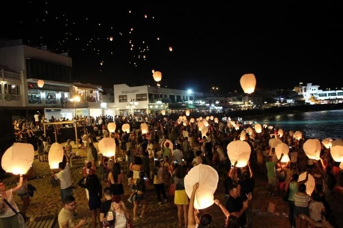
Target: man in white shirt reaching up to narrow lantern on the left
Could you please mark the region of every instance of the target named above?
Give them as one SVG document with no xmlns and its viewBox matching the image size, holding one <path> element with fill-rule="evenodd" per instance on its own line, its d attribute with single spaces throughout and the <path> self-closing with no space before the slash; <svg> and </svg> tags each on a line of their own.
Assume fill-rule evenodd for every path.
<svg viewBox="0 0 343 228">
<path fill-rule="evenodd" d="M 71 187 L 72 182 L 71 182 L 71 172 L 70 172 L 70 164 L 69 164 L 69 157 L 67 156 L 67 154 L 64 155 L 67 158 L 67 163 L 64 164 L 63 162 L 60 162 L 58 164 L 58 169 L 60 170 L 57 174 L 53 174 L 53 177 L 56 180 L 59 180 L 60 182 L 60 186 L 61 186 L 61 200 L 64 203 L 64 199 L 66 196 L 68 195 L 73 195 L 73 189 Z"/>
</svg>

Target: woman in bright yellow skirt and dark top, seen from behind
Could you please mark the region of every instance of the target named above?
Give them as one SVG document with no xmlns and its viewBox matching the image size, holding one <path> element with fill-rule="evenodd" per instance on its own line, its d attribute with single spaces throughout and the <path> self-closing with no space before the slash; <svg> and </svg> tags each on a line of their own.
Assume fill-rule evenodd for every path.
<svg viewBox="0 0 343 228">
<path fill-rule="evenodd" d="M 174 175 L 171 177 L 171 183 L 175 184 L 174 204 L 177 206 L 178 227 L 181 228 L 182 214 L 184 218 L 184 227 L 187 228 L 188 213 L 188 196 L 184 188 L 184 177 L 186 176 L 187 167 L 179 166 L 176 168 Z M 183 213 L 182 213 L 183 211 Z"/>
</svg>

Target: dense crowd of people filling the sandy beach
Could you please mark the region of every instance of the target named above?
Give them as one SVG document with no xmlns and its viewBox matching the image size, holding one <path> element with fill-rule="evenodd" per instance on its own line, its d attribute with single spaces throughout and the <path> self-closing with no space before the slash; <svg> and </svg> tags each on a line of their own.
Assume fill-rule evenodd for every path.
<svg viewBox="0 0 343 228">
<path fill-rule="evenodd" d="M 94 124 L 94 130 L 98 130 L 99 134 L 95 136 L 95 140 L 89 140 L 87 133 L 82 136 L 86 142 L 83 143 L 83 149 L 87 151 L 88 163 L 83 168 L 83 178 L 78 185 L 86 189 L 92 227 L 132 228 L 139 220 L 145 219 L 148 203 L 167 202 L 171 203 L 171 207 L 177 207 L 178 227 L 206 227 L 211 223 L 212 216 L 203 214 L 199 217 L 199 211 L 193 206 L 194 194 L 199 184 L 194 184 L 191 197 L 187 196 L 184 184 L 188 171 L 199 164 L 214 167 L 224 179 L 225 202 L 222 204 L 215 200 L 215 203 L 223 211 L 227 228 L 253 227 L 252 204 L 256 174 L 268 182 L 270 197 L 283 197 L 288 204 L 291 228 L 337 227 L 330 202 L 332 194 L 341 189 L 339 185 L 342 172 L 340 164 L 331 157 L 330 148 L 322 147 L 319 161 L 309 159 L 303 150 L 305 137 L 295 139 L 286 131 L 281 136 L 276 133 L 275 128 L 264 128 L 262 133 L 253 132 L 244 136 L 243 140 L 251 147 L 250 159 L 246 167 L 237 168 L 236 163 L 230 162 L 227 145 L 240 140 L 241 131 L 252 127 L 252 123 L 244 123 L 239 119 L 235 124 L 230 124 L 228 118 L 216 123 L 209 119 L 209 131 L 202 135 L 197 121 L 183 125 L 175 120 L 177 117 L 173 118 L 175 115 L 177 113 L 169 115 L 169 118 L 157 114 L 136 117 L 149 125 L 148 134 L 142 134 L 139 127 L 130 129 L 130 132 L 122 132 L 118 127 L 114 133 L 108 131 L 108 123 L 115 121 L 119 126 L 127 121 L 125 117 L 115 116 L 111 119 L 104 116 L 90 119 L 89 124 Z M 270 143 L 271 135 L 289 146 L 288 155 L 277 156 L 275 147 Z M 115 157 L 101 156 L 93 144 L 99 137 L 114 138 Z M 49 143 L 44 142 L 42 139 L 43 150 L 46 151 L 44 145 L 47 144 L 48 147 Z M 82 227 L 86 220 L 76 223 L 73 215 L 76 199 L 72 191 L 72 153 L 69 140 L 65 150 L 64 161 L 59 163 L 59 172 L 53 173 L 53 178 L 60 183 L 60 196 L 64 204 L 58 215 L 58 223 L 60 228 Z M 281 162 L 283 156 L 289 156 L 290 161 Z M 45 160 L 44 156 L 42 160 Z M 302 173 L 306 173 L 306 178 L 299 181 Z M 309 176 L 315 179 L 313 192 L 306 191 L 305 183 Z M 102 182 L 106 186 L 104 189 Z M 130 192 L 124 192 L 124 184 L 130 186 Z M 0 182 L 0 187 L 2 185 Z M 156 202 L 147 201 L 147 189 L 155 189 Z M 105 201 L 101 200 L 103 194 Z M 125 203 L 133 203 L 132 213 L 127 210 Z M 140 215 L 139 205 L 142 206 Z M 1 210 L 3 208 L 10 212 L 5 205 Z M 13 213 L 0 216 L 0 222 L 8 222 L 7 215 L 13 216 Z"/>
</svg>

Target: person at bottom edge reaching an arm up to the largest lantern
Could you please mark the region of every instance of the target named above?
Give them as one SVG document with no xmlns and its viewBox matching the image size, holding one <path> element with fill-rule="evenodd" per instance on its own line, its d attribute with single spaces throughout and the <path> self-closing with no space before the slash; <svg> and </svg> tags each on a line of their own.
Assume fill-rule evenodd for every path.
<svg viewBox="0 0 343 228">
<path fill-rule="evenodd" d="M 204 213 L 198 218 L 199 211 L 194 208 L 195 192 L 199 187 L 199 183 L 196 182 L 193 185 L 192 195 L 190 197 L 188 208 L 188 228 L 205 228 L 212 222 L 212 215 L 210 213 Z"/>
</svg>

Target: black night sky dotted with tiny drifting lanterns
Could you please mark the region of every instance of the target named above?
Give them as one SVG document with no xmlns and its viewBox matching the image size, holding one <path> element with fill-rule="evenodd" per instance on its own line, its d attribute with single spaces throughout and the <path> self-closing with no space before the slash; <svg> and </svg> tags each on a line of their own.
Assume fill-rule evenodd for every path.
<svg viewBox="0 0 343 228">
<path fill-rule="evenodd" d="M 341 2 L 238 2 L 12 0 L 0 38 L 69 52 L 74 81 L 105 88 L 153 85 L 152 69 L 196 91 L 242 91 L 245 73 L 261 89 L 343 86 Z"/>
</svg>

